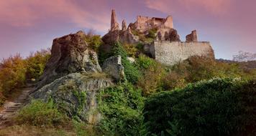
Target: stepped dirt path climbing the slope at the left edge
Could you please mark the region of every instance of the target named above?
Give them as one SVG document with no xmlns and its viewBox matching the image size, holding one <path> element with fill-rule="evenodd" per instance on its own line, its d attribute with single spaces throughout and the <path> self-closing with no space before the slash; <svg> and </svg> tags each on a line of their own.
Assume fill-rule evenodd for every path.
<svg viewBox="0 0 256 136">
<path fill-rule="evenodd" d="M 35 88 L 30 85 L 30 87 L 22 89 L 22 93 L 13 102 L 7 101 L 4 103 L 4 110 L 0 112 L 0 129 L 5 127 L 9 119 L 24 106 L 24 103 L 27 102 L 29 98 L 29 93 L 34 89 Z"/>
</svg>

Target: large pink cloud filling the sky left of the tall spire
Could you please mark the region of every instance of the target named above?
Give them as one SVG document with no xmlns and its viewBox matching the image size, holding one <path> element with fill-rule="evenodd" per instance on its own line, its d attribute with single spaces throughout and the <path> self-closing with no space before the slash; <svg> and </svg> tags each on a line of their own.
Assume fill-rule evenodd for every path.
<svg viewBox="0 0 256 136">
<path fill-rule="evenodd" d="M 101 11 L 92 14 L 89 10 L 99 5 L 99 2 L 82 3 L 79 5 L 71 0 L 8 0 L 0 1 L 0 21 L 12 26 L 33 26 L 41 18 L 65 19 L 76 24 L 78 27 L 87 27 L 91 29 L 109 29 L 109 11 Z M 102 1 L 101 3 L 104 3 Z M 107 8 L 102 8 L 103 10 Z"/>
</svg>

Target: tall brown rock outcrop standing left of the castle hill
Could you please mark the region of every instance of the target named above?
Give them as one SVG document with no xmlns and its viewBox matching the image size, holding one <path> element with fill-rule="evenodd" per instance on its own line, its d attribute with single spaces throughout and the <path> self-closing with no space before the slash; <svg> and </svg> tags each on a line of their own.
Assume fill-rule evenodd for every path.
<svg viewBox="0 0 256 136">
<path fill-rule="evenodd" d="M 88 47 L 85 36 L 78 31 L 53 40 L 52 54 L 38 87 L 74 72 L 101 72 L 97 54 Z"/>
</svg>

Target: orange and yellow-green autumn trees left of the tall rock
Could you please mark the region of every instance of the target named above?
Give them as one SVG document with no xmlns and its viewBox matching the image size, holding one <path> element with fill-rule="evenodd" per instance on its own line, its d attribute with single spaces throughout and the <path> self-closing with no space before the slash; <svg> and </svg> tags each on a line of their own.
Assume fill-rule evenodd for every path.
<svg viewBox="0 0 256 136">
<path fill-rule="evenodd" d="M 27 80 L 38 79 L 50 57 L 50 50 L 42 49 L 23 59 L 19 54 L 0 63 L 0 106 L 4 100 L 25 86 Z"/>
</svg>

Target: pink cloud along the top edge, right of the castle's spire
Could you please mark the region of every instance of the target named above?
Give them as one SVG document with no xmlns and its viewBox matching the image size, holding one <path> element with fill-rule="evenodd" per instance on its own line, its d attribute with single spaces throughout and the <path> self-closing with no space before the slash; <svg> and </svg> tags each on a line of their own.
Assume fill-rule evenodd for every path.
<svg viewBox="0 0 256 136">
<path fill-rule="evenodd" d="M 231 0 L 145 0 L 145 4 L 150 9 L 168 14 L 175 11 L 193 14 L 200 10 L 201 13 L 207 11 L 212 15 L 219 16 L 229 11 Z"/>
</svg>

